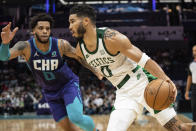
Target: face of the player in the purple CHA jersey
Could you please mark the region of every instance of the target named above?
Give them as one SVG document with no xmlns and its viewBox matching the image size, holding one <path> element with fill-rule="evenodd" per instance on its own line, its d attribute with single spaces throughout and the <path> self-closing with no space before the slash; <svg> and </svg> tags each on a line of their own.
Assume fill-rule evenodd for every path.
<svg viewBox="0 0 196 131">
<path fill-rule="evenodd" d="M 50 22 L 48 21 L 38 21 L 37 25 L 33 29 L 35 39 L 37 39 L 42 44 L 48 43 L 50 33 Z"/>
</svg>

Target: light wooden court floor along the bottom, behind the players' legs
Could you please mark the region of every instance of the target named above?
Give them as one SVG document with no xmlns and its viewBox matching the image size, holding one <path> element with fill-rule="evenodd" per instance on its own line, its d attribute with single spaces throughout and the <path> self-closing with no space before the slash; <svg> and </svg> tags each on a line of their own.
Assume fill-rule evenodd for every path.
<svg viewBox="0 0 196 131">
<path fill-rule="evenodd" d="M 190 119 L 184 115 L 178 115 L 184 122 L 191 122 Z M 101 131 L 106 131 L 109 116 L 108 115 L 94 115 L 92 116 L 96 126 Z M 51 118 L 22 118 L 17 119 L 1 119 L 0 131 L 62 131 Z M 128 131 L 166 131 L 161 127 L 157 121 L 151 116 L 141 116 L 135 121 Z"/>
</svg>

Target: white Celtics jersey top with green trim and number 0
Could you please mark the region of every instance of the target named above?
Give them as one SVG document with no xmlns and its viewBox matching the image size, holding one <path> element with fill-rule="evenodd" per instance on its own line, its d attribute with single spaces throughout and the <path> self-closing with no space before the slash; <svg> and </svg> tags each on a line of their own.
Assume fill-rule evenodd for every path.
<svg viewBox="0 0 196 131">
<path fill-rule="evenodd" d="M 79 41 L 79 44 L 87 63 L 97 68 L 114 86 L 117 86 L 127 74 L 132 73 L 137 64 L 120 52 L 112 55 L 107 51 L 104 43 L 105 30 L 106 28 L 96 29 L 97 45 L 95 51 L 90 52 L 83 40 Z"/>
</svg>

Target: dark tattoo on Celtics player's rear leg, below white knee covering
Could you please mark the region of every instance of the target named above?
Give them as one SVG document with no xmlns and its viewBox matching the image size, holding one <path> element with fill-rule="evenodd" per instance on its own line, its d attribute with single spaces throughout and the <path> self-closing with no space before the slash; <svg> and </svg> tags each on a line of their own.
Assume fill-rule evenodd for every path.
<svg viewBox="0 0 196 131">
<path fill-rule="evenodd" d="M 178 123 L 178 120 L 175 118 L 172 118 L 169 122 L 167 122 L 164 127 L 169 131 L 185 131 L 181 127 L 181 125 Z"/>
</svg>

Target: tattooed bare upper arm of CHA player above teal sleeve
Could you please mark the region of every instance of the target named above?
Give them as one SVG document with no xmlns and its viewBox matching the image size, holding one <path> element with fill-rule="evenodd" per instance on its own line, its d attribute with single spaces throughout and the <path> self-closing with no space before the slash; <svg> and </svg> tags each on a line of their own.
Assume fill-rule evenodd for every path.
<svg viewBox="0 0 196 131">
<path fill-rule="evenodd" d="M 10 58 L 14 59 L 18 56 L 24 55 L 23 51 L 27 47 L 27 43 L 25 41 L 19 41 L 17 42 L 11 49 L 10 49 Z"/>
</svg>

